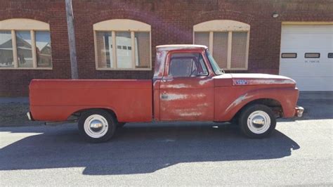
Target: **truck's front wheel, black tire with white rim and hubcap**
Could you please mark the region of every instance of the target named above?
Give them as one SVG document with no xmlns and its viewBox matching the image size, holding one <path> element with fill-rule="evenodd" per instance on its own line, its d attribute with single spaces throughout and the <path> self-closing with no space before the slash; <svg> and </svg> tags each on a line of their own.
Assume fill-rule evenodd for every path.
<svg viewBox="0 0 333 187">
<path fill-rule="evenodd" d="M 276 126 L 274 112 L 266 105 L 249 105 L 240 113 L 240 129 L 249 138 L 265 138 Z"/>
</svg>

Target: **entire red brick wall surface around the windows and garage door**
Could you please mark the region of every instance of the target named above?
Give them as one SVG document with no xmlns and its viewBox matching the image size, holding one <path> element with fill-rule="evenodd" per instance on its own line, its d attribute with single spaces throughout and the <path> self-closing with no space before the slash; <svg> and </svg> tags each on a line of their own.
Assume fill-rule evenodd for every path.
<svg viewBox="0 0 333 187">
<path fill-rule="evenodd" d="M 0 20 L 32 18 L 49 22 L 53 70 L 0 70 L 0 96 L 27 95 L 32 78 L 70 78 L 65 1 L 0 1 Z M 150 79 L 152 71 L 95 69 L 93 24 L 131 19 L 152 26 L 152 63 L 155 46 L 192 44 L 193 25 L 215 19 L 237 20 L 251 26 L 249 70 L 278 74 L 282 21 L 333 21 L 329 0 L 73 0 L 80 79 Z M 272 13 L 279 13 L 272 18 Z"/>
</svg>

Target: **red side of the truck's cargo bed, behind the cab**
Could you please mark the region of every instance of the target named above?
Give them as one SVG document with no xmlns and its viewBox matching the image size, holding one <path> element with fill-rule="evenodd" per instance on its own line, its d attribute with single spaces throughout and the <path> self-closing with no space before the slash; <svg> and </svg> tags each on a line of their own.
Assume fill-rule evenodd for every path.
<svg viewBox="0 0 333 187">
<path fill-rule="evenodd" d="M 34 120 L 65 121 L 74 112 L 104 108 L 119 122 L 152 120 L 151 80 L 33 79 L 30 112 Z"/>
</svg>

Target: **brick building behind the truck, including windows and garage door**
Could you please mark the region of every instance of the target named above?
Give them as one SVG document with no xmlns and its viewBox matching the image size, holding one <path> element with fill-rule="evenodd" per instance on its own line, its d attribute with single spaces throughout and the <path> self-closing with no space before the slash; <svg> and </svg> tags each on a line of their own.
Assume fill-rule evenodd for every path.
<svg viewBox="0 0 333 187">
<path fill-rule="evenodd" d="M 332 89 L 318 84 L 332 81 L 333 1 L 73 0 L 72 6 L 79 79 L 150 79 L 155 46 L 195 43 L 209 46 L 227 72 L 281 74 L 303 90 Z M 70 79 L 67 36 L 65 0 L 1 0 L 0 96 L 27 96 L 31 79 Z M 309 70 L 317 86 L 308 85 Z"/>
</svg>

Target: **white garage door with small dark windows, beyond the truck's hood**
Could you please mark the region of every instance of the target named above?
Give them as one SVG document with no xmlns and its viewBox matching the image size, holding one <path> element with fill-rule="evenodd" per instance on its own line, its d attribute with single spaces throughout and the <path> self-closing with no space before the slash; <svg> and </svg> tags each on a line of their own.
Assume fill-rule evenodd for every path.
<svg viewBox="0 0 333 187">
<path fill-rule="evenodd" d="M 282 25 L 280 75 L 300 91 L 333 91 L 333 25 Z"/>
</svg>

